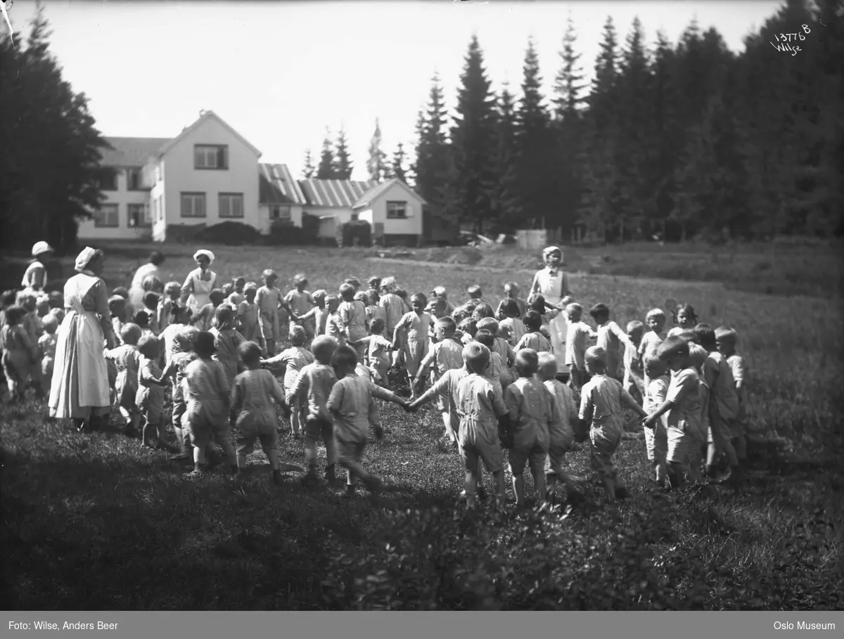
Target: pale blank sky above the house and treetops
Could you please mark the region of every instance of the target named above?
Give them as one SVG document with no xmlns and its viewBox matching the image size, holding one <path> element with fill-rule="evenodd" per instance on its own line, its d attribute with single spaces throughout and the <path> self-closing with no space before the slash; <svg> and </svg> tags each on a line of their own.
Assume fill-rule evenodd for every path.
<svg viewBox="0 0 844 639">
<path fill-rule="evenodd" d="M 306 148 L 318 159 L 325 126 L 345 126 L 356 180 L 375 119 L 382 150 L 398 142 L 413 157 L 414 125 L 430 78 L 440 72 L 451 108 L 469 38 L 477 33 L 494 89 L 520 94 L 527 38 L 533 35 L 545 93 L 560 67 L 571 11 L 587 74 L 607 16 L 623 43 L 638 15 L 652 43 L 672 42 L 697 18 L 715 26 L 733 51 L 780 3 L 756 0 L 661 2 L 58 2 L 46 0 L 51 49 L 64 78 L 89 97 L 106 136 L 175 137 L 214 110 L 262 152 L 299 178 Z M 15 0 L 16 41 L 29 32 L 35 2 Z M 8 29 L 5 24 L 2 29 Z"/>
</svg>

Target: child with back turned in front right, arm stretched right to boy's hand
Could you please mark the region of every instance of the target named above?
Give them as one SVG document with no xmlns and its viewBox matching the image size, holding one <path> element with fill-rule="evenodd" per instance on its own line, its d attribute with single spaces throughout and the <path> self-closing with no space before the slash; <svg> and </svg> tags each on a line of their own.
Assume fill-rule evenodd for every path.
<svg viewBox="0 0 844 639">
<path fill-rule="evenodd" d="M 609 376 L 607 352 L 600 346 L 592 346 L 586 352 L 586 368 L 592 379 L 583 385 L 579 418 L 589 420 L 589 439 L 592 443 L 592 469 L 598 472 L 607 492 L 609 502 L 616 497 L 625 499 L 628 492 L 619 481 L 613 455 L 618 450 L 624 434 L 622 408 L 636 411 L 647 418 L 647 413 L 621 385 L 618 379 Z"/>
</svg>

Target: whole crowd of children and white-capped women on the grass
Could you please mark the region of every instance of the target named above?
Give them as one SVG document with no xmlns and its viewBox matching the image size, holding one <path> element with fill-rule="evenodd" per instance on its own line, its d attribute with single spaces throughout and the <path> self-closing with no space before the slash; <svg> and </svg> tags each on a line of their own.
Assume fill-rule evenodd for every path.
<svg viewBox="0 0 844 639">
<path fill-rule="evenodd" d="M 579 444 L 607 502 L 624 499 L 614 456 L 631 429 L 657 490 L 741 476 L 749 373 L 737 332 L 674 300 L 622 328 L 608 300 L 576 299 L 556 246 L 543 251 L 527 298 L 506 282 L 497 303 L 477 284 L 459 303 L 442 286 L 408 294 L 395 277 L 311 292 L 296 273 L 284 293 L 285 277 L 268 269 L 261 282 L 223 283 L 208 250 L 197 250 L 183 283 L 162 282 L 156 253 L 131 292 L 108 294 L 105 257 L 86 248 L 63 293 L 48 294 L 40 260 L 51 251 L 35 244 L 22 290 L 3 294 L 8 402 L 32 389 L 49 397 L 46 419 L 80 430 L 104 427 L 111 413 L 143 446 L 191 464 L 194 480 L 223 462 L 241 477 L 257 442 L 275 486 L 295 470 L 308 488 L 333 485 L 339 467 L 346 497 L 361 485 L 374 494 L 383 482 L 364 454 L 371 431 L 376 445 L 388 438 L 385 401 L 408 413 L 434 405 L 442 452 L 463 462 L 469 510 L 506 505 L 506 471 L 517 508 L 526 473 L 538 504 L 557 502 L 558 487 L 580 502 L 565 470 Z M 279 462 L 279 436 L 300 440 L 305 468 Z"/>
</svg>

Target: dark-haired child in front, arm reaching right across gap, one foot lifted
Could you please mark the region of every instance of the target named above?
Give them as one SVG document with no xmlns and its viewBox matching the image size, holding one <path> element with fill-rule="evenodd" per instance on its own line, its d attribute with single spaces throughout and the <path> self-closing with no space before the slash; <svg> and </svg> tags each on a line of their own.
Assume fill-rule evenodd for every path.
<svg viewBox="0 0 844 639">
<path fill-rule="evenodd" d="M 326 408 L 334 418 L 334 445 L 337 460 L 346 469 L 346 496 L 354 497 L 357 481 L 371 492 L 381 487 L 381 480 L 370 475 L 360 464 L 369 440 L 370 405 L 373 397 L 408 408 L 408 403 L 387 389 L 372 384 L 371 379 L 354 372 L 357 353 L 351 346 L 340 346 L 334 357 L 338 381 L 331 389 Z"/>
</svg>

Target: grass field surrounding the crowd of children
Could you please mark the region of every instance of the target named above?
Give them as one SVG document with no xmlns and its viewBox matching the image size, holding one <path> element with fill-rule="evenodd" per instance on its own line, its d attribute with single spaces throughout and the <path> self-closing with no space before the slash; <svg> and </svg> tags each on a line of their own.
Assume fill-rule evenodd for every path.
<svg viewBox="0 0 844 639">
<path fill-rule="evenodd" d="M 283 287 L 300 271 L 311 289 L 392 274 L 410 292 L 442 284 L 457 299 L 470 283 L 492 297 L 532 277 L 369 260 L 365 250 L 211 248 L 220 277 L 257 279 L 273 267 Z M 181 281 L 192 248 L 165 250 L 163 271 Z M 148 251 L 111 251 L 109 284 L 127 285 Z M 467 517 L 461 464 L 437 448 L 441 421 L 430 409 L 408 416 L 382 405 L 387 438 L 367 448 L 365 465 L 386 490 L 347 502 L 340 487 L 306 491 L 295 473 L 272 486 L 262 453 L 245 481 L 222 471 L 193 481 L 138 440 L 45 423 L 35 401 L 4 405 L 8 608 L 841 609 L 837 303 L 587 274 L 571 286 L 582 303 L 609 303 L 619 324 L 674 298 L 738 330 L 753 376 L 742 486 L 654 491 L 631 418 L 617 459 L 631 496 L 617 512 L 580 444 L 567 463 L 585 505 Z M 282 437 L 279 456 L 302 464 L 301 443 Z"/>
</svg>

